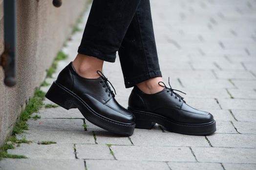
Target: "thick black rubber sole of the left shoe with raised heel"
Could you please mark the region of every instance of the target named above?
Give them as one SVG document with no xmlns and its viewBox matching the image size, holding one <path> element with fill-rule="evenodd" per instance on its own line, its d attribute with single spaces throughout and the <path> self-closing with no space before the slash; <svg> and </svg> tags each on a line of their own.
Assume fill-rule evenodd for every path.
<svg viewBox="0 0 256 170">
<path fill-rule="evenodd" d="M 135 123 L 122 123 L 102 116 L 89 107 L 88 104 L 75 93 L 56 82 L 53 82 L 45 97 L 67 110 L 78 108 L 85 119 L 109 132 L 124 136 L 131 136 L 133 134 Z"/>
</svg>

